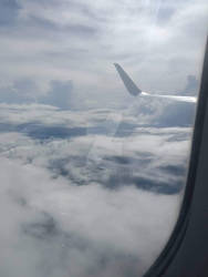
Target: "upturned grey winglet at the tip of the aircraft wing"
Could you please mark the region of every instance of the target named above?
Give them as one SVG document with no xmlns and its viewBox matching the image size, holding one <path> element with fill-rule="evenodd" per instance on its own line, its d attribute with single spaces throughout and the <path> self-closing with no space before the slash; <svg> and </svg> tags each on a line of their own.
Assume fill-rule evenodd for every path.
<svg viewBox="0 0 208 277">
<path fill-rule="evenodd" d="M 133 82 L 133 80 L 128 76 L 128 74 L 122 69 L 122 66 L 118 63 L 114 63 L 122 81 L 124 82 L 124 85 L 126 86 L 127 91 L 134 95 L 137 96 L 142 93 L 142 90 L 136 86 L 136 84 Z"/>
</svg>

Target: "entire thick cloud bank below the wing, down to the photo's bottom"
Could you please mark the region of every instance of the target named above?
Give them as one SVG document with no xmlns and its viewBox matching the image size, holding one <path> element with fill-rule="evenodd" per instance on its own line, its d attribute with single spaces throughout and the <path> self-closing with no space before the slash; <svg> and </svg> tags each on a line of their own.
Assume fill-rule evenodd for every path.
<svg viewBox="0 0 208 277">
<path fill-rule="evenodd" d="M 1 276 L 136 277 L 150 266 L 177 218 L 191 130 L 136 107 L 1 104 Z"/>
</svg>

